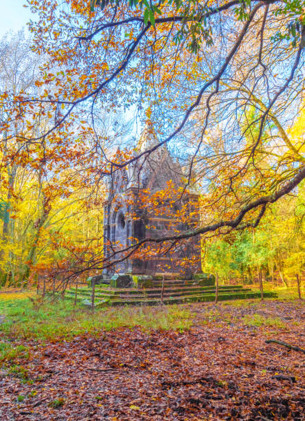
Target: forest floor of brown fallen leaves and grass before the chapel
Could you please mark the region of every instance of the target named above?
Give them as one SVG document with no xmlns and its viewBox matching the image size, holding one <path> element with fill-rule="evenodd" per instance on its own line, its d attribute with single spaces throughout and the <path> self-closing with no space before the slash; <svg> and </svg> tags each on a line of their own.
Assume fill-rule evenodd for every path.
<svg viewBox="0 0 305 421">
<path fill-rule="evenodd" d="M 305 354 L 266 343 L 305 348 L 304 301 L 91 314 L 8 295 L 0 294 L 3 421 L 305 420 Z"/>
</svg>

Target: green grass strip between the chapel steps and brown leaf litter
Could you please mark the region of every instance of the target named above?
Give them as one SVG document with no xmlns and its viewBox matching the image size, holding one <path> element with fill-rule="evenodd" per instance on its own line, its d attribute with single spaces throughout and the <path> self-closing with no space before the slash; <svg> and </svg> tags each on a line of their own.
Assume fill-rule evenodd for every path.
<svg viewBox="0 0 305 421">
<path fill-rule="evenodd" d="M 180 330 L 192 326 L 194 314 L 178 305 L 159 307 L 106 307 L 100 310 L 84 310 L 74 307 L 70 301 L 43 303 L 35 307 L 29 299 L 5 300 L 0 304 L 0 312 L 5 315 L 0 325 L 4 338 L 30 341 L 69 340 L 74 336 L 98 333 L 117 327 L 140 326 L 144 330 Z M 9 358 L 13 349 L 5 349 L 4 359 Z M 17 352 L 25 352 L 23 349 Z M 12 358 L 13 359 L 13 358 Z"/>
</svg>

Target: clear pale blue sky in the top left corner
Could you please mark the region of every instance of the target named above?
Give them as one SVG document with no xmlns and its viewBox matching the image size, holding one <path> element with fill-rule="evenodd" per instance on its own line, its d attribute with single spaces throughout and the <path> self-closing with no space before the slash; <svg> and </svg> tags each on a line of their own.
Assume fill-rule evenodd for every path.
<svg viewBox="0 0 305 421">
<path fill-rule="evenodd" d="M 0 38 L 6 32 L 21 30 L 31 18 L 28 8 L 23 8 L 26 0 L 0 0 Z"/>
</svg>

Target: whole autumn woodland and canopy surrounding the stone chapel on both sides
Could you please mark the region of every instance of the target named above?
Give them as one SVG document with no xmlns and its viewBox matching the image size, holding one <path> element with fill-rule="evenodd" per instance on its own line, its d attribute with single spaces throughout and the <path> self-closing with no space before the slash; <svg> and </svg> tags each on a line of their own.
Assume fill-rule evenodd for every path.
<svg viewBox="0 0 305 421">
<path fill-rule="evenodd" d="M 251 200 L 275 194 L 304 166 L 304 5 L 238 5 L 220 5 L 222 22 L 213 1 L 28 2 L 31 36 L 11 33 L 0 46 L 2 286 L 102 270 L 106 179 L 139 159 L 146 118 L 201 193 L 195 228 L 203 233 L 203 270 L 245 283 L 263 270 L 285 286 L 302 275 L 304 180 L 259 215 L 247 213 L 245 229 L 205 233 L 209 222 L 233 219 Z M 176 27 L 175 12 L 189 21 L 174 18 Z M 236 38 L 231 69 L 216 74 Z M 198 94 L 209 77 L 216 90 Z M 198 107 L 188 109 L 193 99 Z M 183 120 L 170 143 L 183 114 L 190 125 Z"/>
</svg>

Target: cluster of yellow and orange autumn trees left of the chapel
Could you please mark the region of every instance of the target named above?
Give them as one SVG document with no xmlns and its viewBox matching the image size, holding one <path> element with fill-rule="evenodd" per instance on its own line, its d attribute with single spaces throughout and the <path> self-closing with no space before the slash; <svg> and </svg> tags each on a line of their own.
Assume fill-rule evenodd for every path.
<svg viewBox="0 0 305 421">
<path fill-rule="evenodd" d="M 83 160 L 83 151 L 92 149 L 90 132 L 84 137 L 79 130 L 76 138 L 70 130 L 74 145 L 68 145 L 60 132 L 42 142 L 21 139 L 21 133 L 33 138 L 49 127 L 48 105 L 35 112 L 12 106 L 22 95 L 40 94 L 37 82 L 45 57 L 31 52 L 30 42 L 23 32 L 8 34 L 1 42 L 0 282 L 7 286 L 26 285 L 33 269 L 60 269 L 60 262 L 65 266 L 67 249 L 70 254 L 77 250 L 81 257 L 102 248 L 104 188 L 100 185 L 97 193 L 88 182 Z M 117 138 L 126 130 L 120 118 L 116 124 L 107 118 L 103 124 L 96 120 L 95 133 L 101 142 L 110 125 L 109 137 Z M 96 157 L 95 151 L 89 153 L 91 165 L 98 162 Z"/>
</svg>

